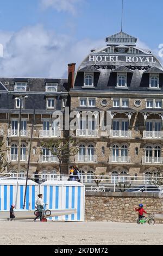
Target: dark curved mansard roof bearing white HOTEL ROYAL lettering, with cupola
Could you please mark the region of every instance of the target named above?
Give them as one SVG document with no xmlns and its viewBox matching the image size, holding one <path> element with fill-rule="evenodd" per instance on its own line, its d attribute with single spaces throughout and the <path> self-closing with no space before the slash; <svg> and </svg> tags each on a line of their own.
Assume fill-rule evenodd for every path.
<svg viewBox="0 0 163 256">
<path fill-rule="evenodd" d="M 151 50 L 136 46 L 137 39 L 124 32 L 108 36 L 107 45 L 92 50 L 76 71 L 74 88 L 70 90 L 88 90 L 84 88 L 84 75 L 92 72 L 94 87 L 89 90 L 117 90 L 117 74 L 127 74 L 128 92 L 149 92 L 150 74 L 158 74 L 160 93 L 163 93 L 163 68 Z M 92 67 L 92 68 L 91 68 Z M 120 88 L 118 90 L 121 91 Z M 123 90 L 124 92 L 124 90 Z"/>
</svg>

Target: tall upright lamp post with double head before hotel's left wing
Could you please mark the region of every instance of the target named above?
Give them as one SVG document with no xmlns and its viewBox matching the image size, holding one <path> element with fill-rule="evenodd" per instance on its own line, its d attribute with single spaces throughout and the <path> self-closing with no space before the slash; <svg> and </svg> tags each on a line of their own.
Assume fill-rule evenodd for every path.
<svg viewBox="0 0 163 256">
<path fill-rule="evenodd" d="M 20 160 L 21 160 L 21 123 L 22 123 L 22 102 L 23 99 L 28 99 L 28 96 L 19 96 L 15 98 L 20 102 L 20 112 L 19 112 L 19 129 L 18 129 L 18 157 L 17 157 L 17 172 L 20 173 Z"/>
</svg>

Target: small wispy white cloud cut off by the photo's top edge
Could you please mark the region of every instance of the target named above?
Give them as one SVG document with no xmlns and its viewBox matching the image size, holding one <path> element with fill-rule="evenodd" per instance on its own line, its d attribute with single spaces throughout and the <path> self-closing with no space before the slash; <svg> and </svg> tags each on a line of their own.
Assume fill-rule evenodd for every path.
<svg viewBox="0 0 163 256">
<path fill-rule="evenodd" d="M 71 14 L 77 13 L 78 4 L 83 0 L 41 0 L 42 8 L 53 8 L 57 11 L 67 11 Z"/>
</svg>

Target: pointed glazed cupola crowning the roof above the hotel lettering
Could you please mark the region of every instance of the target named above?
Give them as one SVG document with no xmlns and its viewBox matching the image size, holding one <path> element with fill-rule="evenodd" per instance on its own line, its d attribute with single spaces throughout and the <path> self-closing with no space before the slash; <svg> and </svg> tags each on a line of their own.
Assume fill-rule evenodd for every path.
<svg viewBox="0 0 163 256">
<path fill-rule="evenodd" d="M 136 45 L 137 38 L 121 31 L 108 36 L 106 42 L 108 42 L 108 45 Z"/>
</svg>

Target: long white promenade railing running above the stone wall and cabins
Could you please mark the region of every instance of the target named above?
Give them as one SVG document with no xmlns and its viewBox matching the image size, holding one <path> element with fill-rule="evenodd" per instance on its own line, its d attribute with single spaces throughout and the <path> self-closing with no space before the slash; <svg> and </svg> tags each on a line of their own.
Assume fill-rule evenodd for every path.
<svg viewBox="0 0 163 256">
<path fill-rule="evenodd" d="M 39 173 L 39 178 L 36 177 L 37 182 L 40 184 L 47 180 L 51 181 L 73 181 L 77 180 L 76 175 L 57 173 Z M 26 179 L 26 173 L 3 173 L 0 175 L 0 179 Z M 35 180 L 35 174 L 29 173 L 28 179 Z M 97 186 L 95 181 L 95 175 L 90 174 L 79 174 L 78 179 L 81 183 L 85 185 L 86 191 L 102 191 L 102 192 L 124 192 L 130 190 L 129 192 L 159 192 L 163 190 L 163 177 L 154 176 L 130 176 L 127 174 L 123 175 L 96 175 L 96 180 L 99 180 L 99 185 Z M 39 181 L 38 181 L 39 180 Z M 155 186 L 154 186 L 155 185 Z M 158 189 L 159 188 L 159 189 Z"/>
</svg>

